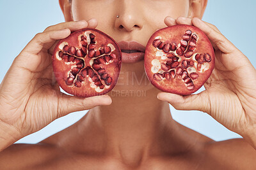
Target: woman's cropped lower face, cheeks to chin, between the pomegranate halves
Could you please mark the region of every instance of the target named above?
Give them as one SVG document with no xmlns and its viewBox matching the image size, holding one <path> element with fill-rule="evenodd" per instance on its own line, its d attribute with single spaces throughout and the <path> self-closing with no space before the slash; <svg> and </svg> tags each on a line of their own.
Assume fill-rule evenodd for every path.
<svg viewBox="0 0 256 170">
<path fill-rule="evenodd" d="M 72 0 L 71 13 L 73 20 L 96 18 L 96 29 L 105 32 L 118 43 L 136 41 L 145 50 L 150 36 L 157 29 L 166 27 L 165 17 L 189 16 L 189 0 Z M 124 45 L 120 46 L 121 50 L 125 48 Z M 143 58 L 138 61 L 126 60 L 112 94 L 152 88 L 145 75 Z"/>
</svg>

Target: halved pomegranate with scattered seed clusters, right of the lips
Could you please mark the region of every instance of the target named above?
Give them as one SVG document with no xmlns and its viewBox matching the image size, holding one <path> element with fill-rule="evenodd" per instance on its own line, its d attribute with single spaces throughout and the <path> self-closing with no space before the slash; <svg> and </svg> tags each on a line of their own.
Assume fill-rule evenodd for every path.
<svg viewBox="0 0 256 170">
<path fill-rule="evenodd" d="M 196 92 L 214 69 L 214 50 L 200 29 L 174 25 L 156 31 L 145 51 L 145 71 L 157 89 L 180 95 Z"/>
</svg>

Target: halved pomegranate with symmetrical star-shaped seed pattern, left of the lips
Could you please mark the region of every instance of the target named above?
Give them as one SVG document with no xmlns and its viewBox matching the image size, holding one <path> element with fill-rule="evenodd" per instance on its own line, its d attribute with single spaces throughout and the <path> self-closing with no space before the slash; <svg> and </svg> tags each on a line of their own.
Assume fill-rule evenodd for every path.
<svg viewBox="0 0 256 170">
<path fill-rule="evenodd" d="M 113 38 L 97 29 L 82 29 L 55 46 L 52 67 L 60 87 L 75 96 L 103 95 L 120 73 L 122 53 Z"/>
</svg>

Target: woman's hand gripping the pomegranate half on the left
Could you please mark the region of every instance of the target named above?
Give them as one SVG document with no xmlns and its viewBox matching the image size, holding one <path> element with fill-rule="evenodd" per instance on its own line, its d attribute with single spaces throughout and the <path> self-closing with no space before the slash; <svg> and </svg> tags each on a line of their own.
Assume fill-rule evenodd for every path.
<svg viewBox="0 0 256 170">
<path fill-rule="evenodd" d="M 96 26 L 94 19 L 53 25 L 36 34 L 15 58 L 0 85 L 0 143 L 8 140 L 6 136 L 17 141 L 68 113 L 111 104 L 109 96 L 82 98 L 61 93 L 52 73 L 56 41 L 71 31 Z"/>
</svg>

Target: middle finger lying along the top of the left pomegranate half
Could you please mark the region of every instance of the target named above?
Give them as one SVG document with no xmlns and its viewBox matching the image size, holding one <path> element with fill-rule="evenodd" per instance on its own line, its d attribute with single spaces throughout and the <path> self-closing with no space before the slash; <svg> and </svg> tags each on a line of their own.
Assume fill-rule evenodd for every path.
<svg viewBox="0 0 256 170">
<path fill-rule="evenodd" d="M 44 32 L 61 30 L 61 29 L 70 29 L 70 31 L 73 32 L 73 31 L 77 31 L 79 29 L 86 28 L 87 26 L 88 26 L 88 22 L 86 22 L 85 20 L 62 22 L 60 24 L 51 25 L 51 26 L 47 27 Z"/>
</svg>

